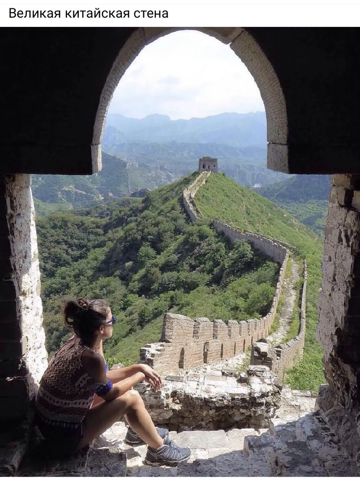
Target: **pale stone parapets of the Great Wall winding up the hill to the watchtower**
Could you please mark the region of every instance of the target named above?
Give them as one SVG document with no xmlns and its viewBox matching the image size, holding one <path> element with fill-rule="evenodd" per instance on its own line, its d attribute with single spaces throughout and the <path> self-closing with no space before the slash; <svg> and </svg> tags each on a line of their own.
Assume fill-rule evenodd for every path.
<svg viewBox="0 0 360 478">
<path fill-rule="evenodd" d="M 211 172 L 208 171 L 200 173 L 183 191 L 183 205 L 192 222 L 203 217 L 196 205 L 195 194 L 210 174 Z M 271 347 L 264 342 L 255 343 L 269 336 L 283 289 L 290 250 L 293 248 L 281 241 L 234 228 L 222 221 L 212 220 L 211 225 L 217 231 L 222 231 L 230 241 L 247 240 L 255 249 L 281 264 L 269 313 L 261 319 L 228 320 L 227 323 L 223 320 L 210 321 L 203 317 L 191 319 L 180 314 L 165 314 L 160 340 L 140 348 L 140 362 L 154 367 L 161 374 L 170 374 L 179 369 L 216 363 L 244 353 L 248 347 L 251 347 L 252 364 L 267 365 L 278 375 L 283 375 L 285 368 L 293 365 L 303 353 L 306 320 L 306 263 L 304 262 L 304 282 L 300 291 L 301 306 L 297 335 L 276 347 Z"/>
</svg>

